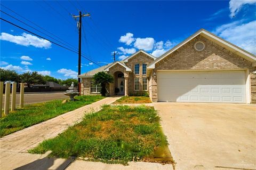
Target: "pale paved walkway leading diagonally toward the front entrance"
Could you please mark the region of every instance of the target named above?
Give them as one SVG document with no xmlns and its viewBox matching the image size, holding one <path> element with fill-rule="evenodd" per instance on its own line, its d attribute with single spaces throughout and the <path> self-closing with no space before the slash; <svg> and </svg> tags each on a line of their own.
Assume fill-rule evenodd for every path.
<svg viewBox="0 0 256 170">
<path fill-rule="evenodd" d="M 50 159 L 46 158 L 46 156 L 27 153 L 27 150 L 36 147 L 43 140 L 57 136 L 69 126 L 81 122 L 84 114 L 92 111 L 99 111 L 102 104 L 113 103 L 119 98 L 119 96 L 105 98 L 2 137 L 0 139 L 0 169 L 7 170 L 18 167 L 20 167 L 19 169 L 31 169 L 33 166 L 38 169 L 38 166 L 41 166 L 42 164 L 47 166 L 46 169 L 50 167 L 50 169 L 57 169 L 61 165 L 68 165 L 71 162 L 70 160 Z"/>
</svg>

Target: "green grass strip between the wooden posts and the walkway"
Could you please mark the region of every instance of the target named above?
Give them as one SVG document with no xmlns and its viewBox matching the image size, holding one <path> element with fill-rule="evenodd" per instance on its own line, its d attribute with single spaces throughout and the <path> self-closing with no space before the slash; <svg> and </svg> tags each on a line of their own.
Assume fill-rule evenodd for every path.
<svg viewBox="0 0 256 170">
<path fill-rule="evenodd" d="M 17 109 L 10 112 L 9 115 L 0 118 L 0 137 L 44 122 L 103 98 L 100 95 L 83 95 L 76 96 L 75 99 L 77 101 L 75 102 L 61 103 L 62 100 L 52 100 L 44 103 L 28 104 L 23 109 Z"/>
</svg>

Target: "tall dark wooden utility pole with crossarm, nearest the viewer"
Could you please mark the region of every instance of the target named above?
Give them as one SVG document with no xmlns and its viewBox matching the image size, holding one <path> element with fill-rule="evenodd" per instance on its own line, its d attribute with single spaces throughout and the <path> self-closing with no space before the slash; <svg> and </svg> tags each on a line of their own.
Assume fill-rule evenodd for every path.
<svg viewBox="0 0 256 170">
<path fill-rule="evenodd" d="M 79 21 L 77 22 L 77 27 L 79 30 L 79 36 L 78 36 L 78 75 L 81 75 L 81 35 L 82 35 L 82 17 L 89 17 L 90 13 L 82 14 L 81 11 L 79 11 L 79 15 L 75 16 L 73 15 L 73 18 L 78 18 Z M 78 92 L 80 92 L 80 83 L 81 78 L 78 78 Z"/>
</svg>

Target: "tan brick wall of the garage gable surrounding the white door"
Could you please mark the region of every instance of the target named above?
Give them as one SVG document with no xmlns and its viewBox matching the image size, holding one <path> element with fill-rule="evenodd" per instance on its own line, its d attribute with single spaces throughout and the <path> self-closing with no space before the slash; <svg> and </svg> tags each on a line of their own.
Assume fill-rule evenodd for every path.
<svg viewBox="0 0 256 170">
<path fill-rule="evenodd" d="M 205 49 L 198 52 L 194 49 L 197 41 L 204 42 Z M 251 97 L 252 102 L 256 102 L 256 76 L 253 71 L 252 63 L 241 56 L 228 51 L 226 48 L 215 44 L 214 42 L 197 36 L 179 50 L 166 56 L 155 65 L 153 72 L 157 70 L 220 70 L 220 69 L 249 69 L 251 75 Z M 151 76 L 151 100 L 157 101 L 157 79 Z"/>
</svg>

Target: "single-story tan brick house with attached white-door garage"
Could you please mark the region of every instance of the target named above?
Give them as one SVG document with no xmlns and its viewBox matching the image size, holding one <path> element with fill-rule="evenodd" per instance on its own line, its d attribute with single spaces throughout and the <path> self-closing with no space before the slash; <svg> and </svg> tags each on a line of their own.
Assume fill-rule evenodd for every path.
<svg viewBox="0 0 256 170">
<path fill-rule="evenodd" d="M 81 94 L 98 94 L 91 84 L 99 71 L 115 78 L 108 94 L 147 91 L 153 102 L 256 102 L 256 57 L 206 31 L 198 30 L 159 58 L 139 50 L 122 61 L 91 70 L 82 78 Z"/>
</svg>

